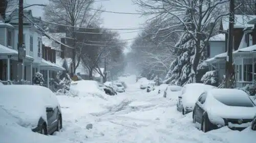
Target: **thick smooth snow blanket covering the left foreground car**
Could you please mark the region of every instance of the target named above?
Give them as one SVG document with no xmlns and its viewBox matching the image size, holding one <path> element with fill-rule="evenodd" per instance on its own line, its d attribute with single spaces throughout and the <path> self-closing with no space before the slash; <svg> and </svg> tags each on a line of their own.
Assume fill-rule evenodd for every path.
<svg viewBox="0 0 256 143">
<path fill-rule="evenodd" d="M 0 106 L 23 126 L 36 126 L 40 117 L 47 122 L 46 107 L 59 105 L 50 89 L 38 85 L 5 85 L 0 91 Z"/>
</svg>

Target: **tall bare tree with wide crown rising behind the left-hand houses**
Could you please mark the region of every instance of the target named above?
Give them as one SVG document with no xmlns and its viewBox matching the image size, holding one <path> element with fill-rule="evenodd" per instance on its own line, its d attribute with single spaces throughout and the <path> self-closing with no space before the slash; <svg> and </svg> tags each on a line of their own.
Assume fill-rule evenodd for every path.
<svg viewBox="0 0 256 143">
<path fill-rule="evenodd" d="M 75 27 L 88 27 L 91 23 L 98 21 L 99 11 L 92 12 L 90 10 L 93 4 L 94 0 L 49 0 L 49 5 L 45 8 L 47 21 L 69 26 L 66 27 L 66 30 L 67 36 L 73 39 L 70 41 L 71 43 L 68 43 L 73 47 L 72 75 L 75 74 L 81 58 L 81 56 L 76 56 L 80 49 L 77 45 L 76 32 L 80 31 L 80 28 Z"/>
</svg>

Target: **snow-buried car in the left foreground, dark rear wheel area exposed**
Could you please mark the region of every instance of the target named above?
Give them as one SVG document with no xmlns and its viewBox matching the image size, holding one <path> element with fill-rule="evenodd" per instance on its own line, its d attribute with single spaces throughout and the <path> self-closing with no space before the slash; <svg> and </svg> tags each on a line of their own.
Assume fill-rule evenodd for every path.
<svg viewBox="0 0 256 143">
<path fill-rule="evenodd" d="M 62 128 L 60 105 L 50 89 L 38 85 L 5 85 L 0 91 L 1 107 L 20 126 L 45 135 Z"/>
</svg>

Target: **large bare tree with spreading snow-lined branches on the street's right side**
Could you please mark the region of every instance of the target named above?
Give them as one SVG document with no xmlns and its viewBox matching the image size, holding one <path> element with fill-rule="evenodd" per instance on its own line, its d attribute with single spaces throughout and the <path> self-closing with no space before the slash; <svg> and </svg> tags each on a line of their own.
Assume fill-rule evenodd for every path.
<svg viewBox="0 0 256 143">
<path fill-rule="evenodd" d="M 177 70 L 177 75 L 182 80 L 181 84 L 197 82 L 197 79 L 200 79 L 197 74 L 198 65 L 203 61 L 205 47 L 209 38 L 217 32 L 216 26 L 220 19 L 229 14 L 223 9 L 229 0 L 135 0 L 134 2 L 142 8 L 141 12 L 153 13 L 155 19 L 160 19 L 164 23 L 164 27 L 158 32 L 173 30 L 176 26 L 182 27 L 168 32 L 166 37 L 174 33 L 182 34 L 175 48 L 182 49 L 179 50 L 178 60 L 188 61 L 184 61 L 184 65 L 181 62 L 177 65 L 177 68 L 180 68 Z M 184 53 L 185 49 L 190 54 Z"/>
</svg>

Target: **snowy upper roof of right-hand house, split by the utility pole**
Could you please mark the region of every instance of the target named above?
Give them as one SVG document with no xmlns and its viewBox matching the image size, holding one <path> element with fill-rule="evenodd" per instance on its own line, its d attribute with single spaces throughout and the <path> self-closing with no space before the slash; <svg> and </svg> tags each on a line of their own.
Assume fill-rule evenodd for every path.
<svg viewBox="0 0 256 143">
<path fill-rule="evenodd" d="M 234 28 L 245 28 L 245 27 L 254 27 L 254 24 L 248 24 L 248 21 L 256 18 L 256 15 L 234 15 Z M 229 17 L 225 16 L 222 20 L 223 30 L 228 30 Z"/>
</svg>

